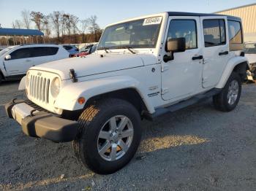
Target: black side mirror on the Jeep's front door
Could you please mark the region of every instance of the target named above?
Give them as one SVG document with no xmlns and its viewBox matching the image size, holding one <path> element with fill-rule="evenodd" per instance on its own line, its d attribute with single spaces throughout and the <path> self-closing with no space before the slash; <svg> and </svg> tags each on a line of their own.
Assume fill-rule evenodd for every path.
<svg viewBox="0 0 256 191">
<path fill-rule="evenodd" d="M 166 43 L 165 50 L 170 52 L 170 55 L 164 56 L 164 61 L 172 61 L 174 59 L 174 52 L 185 52 L 186 50 L 186 39 L 185 38 L 176 38 L 169 39 Z"/>
</svg>

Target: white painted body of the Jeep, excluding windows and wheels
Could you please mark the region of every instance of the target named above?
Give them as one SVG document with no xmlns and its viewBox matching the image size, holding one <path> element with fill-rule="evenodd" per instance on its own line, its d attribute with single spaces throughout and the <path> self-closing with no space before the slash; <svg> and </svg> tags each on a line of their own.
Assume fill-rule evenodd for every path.
<svg viewBox="0 0 256 191">
<path fill-rule="evenodd" d="M 219 56 L 219 52 L 229 50 L 228 40 L 223 46 L 209 49 L 204 47 L 202 26 L 204 17 L 174 17 L 161 13 L 124 20 L 120 23 L 159 16 L 162 17 L 162 26 L 155 48 L 132 49 L 136 54 L 126 49 L 108 50 L 109 53 L 105 50 L 97 50 L 95 54 L 86 58 L 70 58 L 32 67 L 29 70 L 30 75 L 37 75 L 39 72 L 42 77 L 50 81 L 55 77 L 61 79 L 61 90 L 56 98 L 49 93 L 48 104 L 31 95 L 28 95 L 28 98 L 50 112 L 61 114 L 63 110 L 83 109 L 84 104 L 78 104 L 80 97 L 86 98 L 87 101 L 95 95 L 133 88 L 140 94 L 148 112 L 153 114 L 158 108 L 176 104 L 214 87 L 224 87 L 234 67 L 246 61 L 246 58 L 239 56 L 241 51 Z M 211 18 L 222 18 L 227 23 L 225 16 L 207 17 L 207 19 Z M 163 56 L 167 54 L 165 52 L 167 28 L 170 20 L 173 19 L 196 20 L 197 48 L 174 53 L 175 59 L 165 63 Z M 226 38 L 228 39 L 228 32 Z M 203 55 L 206 61 L 192 61 L 192 57 L 197 55 Z M 78 82 L 72 82 L 69 69 L 75 70 Z M 29 87 L 26 88 L 30 92 Z M 157 95 L 149 96 L 152 93 Z"/>
</svg>

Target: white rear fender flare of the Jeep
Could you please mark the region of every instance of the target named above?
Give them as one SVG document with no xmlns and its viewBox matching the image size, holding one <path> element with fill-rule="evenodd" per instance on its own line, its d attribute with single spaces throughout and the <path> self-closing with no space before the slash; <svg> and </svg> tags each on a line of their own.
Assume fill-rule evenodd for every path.
<svg viewBox="0 0 256 191">
<path fill-rule="evenodd" d="M 223 88 L 226 85 L 227 79 L 230 77 L 230 74 L 232 73 L 233 69 L 239 64 L 246 62 L 248 65 L 248 60 L 245 57 L 237 56 L 235 58 L 231 58 L 227 62 L 227 66 L 225 67 L 225 70 L 222 73 L 222 77 L 219 80 L 216 88 Z"/>
</svg>

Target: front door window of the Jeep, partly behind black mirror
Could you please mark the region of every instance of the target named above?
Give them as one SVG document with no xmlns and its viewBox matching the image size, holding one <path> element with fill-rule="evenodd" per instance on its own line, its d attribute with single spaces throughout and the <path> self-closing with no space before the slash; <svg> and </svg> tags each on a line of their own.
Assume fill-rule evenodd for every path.
<svg viewBox="0 0 256 191">
<path fill-rule="evenodd" d="M 186 50 L 197 48 L 197 26 L 195 20 L 170 20 L 167 40 L 184 37 Z"/>
</svg>

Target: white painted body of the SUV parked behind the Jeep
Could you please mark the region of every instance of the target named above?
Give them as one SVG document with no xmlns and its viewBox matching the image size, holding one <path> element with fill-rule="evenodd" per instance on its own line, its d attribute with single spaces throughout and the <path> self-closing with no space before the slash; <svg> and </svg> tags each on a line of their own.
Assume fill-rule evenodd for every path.
<svg viewBox="0 0 256 191">
<path fill-rule="evenodd" d="M 38 57 L 30 57 L 30 58 L 20 58 L 20 59 L 10 59 L 5 60 L 4 58 L 7 55 L 12 54 L 16 50 L 20 50 L 23 48 L 33 48 L 33 47 L 58 47 L 59 50 L 56 55 L 46 55 L 46 56 L 38 56 Z M 64 58 L 69 58 L 69 52 L 64 49 L 64 47 L 56 44 L 33 44 L 33 45 L 18 45 L 10 48 L 9 51 L 5 52 L 0 57 L 0 70 L 4 75 L 4 78 L 14 77 L 17 75 L 26 74 L 26 72 L 32 66 L 37 66 L 42 63 L 48 63 L 50 61 L 57 61 Z"/>
</svg>

